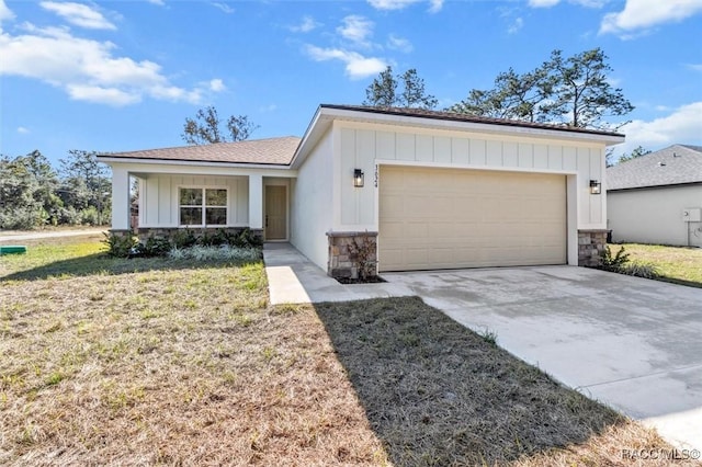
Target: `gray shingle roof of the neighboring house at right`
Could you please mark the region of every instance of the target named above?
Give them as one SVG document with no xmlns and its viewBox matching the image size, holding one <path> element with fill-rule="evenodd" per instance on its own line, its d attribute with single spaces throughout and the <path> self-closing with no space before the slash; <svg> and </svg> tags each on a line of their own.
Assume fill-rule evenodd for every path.
<svg viewBox="0 0 702 467">
<path fill-rule="evenodd" d="M 607 169 L 610 190 L 702 183 L 702 147 L 672 145 Z"/>
</svg>

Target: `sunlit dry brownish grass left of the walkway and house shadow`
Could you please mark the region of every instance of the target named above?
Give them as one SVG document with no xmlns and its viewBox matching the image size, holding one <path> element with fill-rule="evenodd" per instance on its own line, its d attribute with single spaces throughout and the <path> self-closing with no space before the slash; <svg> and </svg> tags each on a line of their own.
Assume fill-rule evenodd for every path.
<svg viewBox="0 0 702 467">
<path fill-rule="evenodd" d="M 385 462 L 324 327 L 268 308 L 261 264 L 0 287 L 0 464 Z"/>
</svg>

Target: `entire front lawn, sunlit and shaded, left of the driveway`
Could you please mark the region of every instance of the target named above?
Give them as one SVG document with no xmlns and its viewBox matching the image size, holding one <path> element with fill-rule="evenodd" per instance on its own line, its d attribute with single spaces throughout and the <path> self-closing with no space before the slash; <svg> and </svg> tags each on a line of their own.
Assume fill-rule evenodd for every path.
<svg viewBox="0 0 702 467">
<path fill-rule="evenodd" d="M 0 258 L 0 465 L 616 466 L 670 447 L 416 298 L 271 307 L 260 261 L 102 249 Z"/>
</svg>

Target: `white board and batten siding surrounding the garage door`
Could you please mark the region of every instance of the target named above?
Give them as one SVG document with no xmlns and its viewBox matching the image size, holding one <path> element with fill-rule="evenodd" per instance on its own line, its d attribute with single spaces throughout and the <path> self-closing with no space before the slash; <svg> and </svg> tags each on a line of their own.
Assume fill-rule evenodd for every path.
<svg viewBox="0 0 702 467">
<path fill-rule="evenodd" d="M 336 122 L 335 132 L 341 181 L 336 230 L 377 230 L 376 163 L 571 175 L 568 193 L 577 193 L 577 204 L 568 205 L 577 205 L 577 228 L 607 228 L 605 196 L 589 192 L 590 180 L 603 178 L 604 145 L 350 122 Z M 363 189 L 353 187 L 353 169 L 365 173 Z"/>
</svg>

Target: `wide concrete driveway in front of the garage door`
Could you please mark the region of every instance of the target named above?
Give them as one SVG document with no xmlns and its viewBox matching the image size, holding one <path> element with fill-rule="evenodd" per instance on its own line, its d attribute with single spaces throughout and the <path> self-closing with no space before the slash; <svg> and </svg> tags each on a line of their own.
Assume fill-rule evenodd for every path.
<svg viewBox="0 0 702 467">
<path fill-rule="evenodd" d="M 702 449 L 702 289 L 574 266 L 383 277 L 679 447 Z"/>
</svg>

